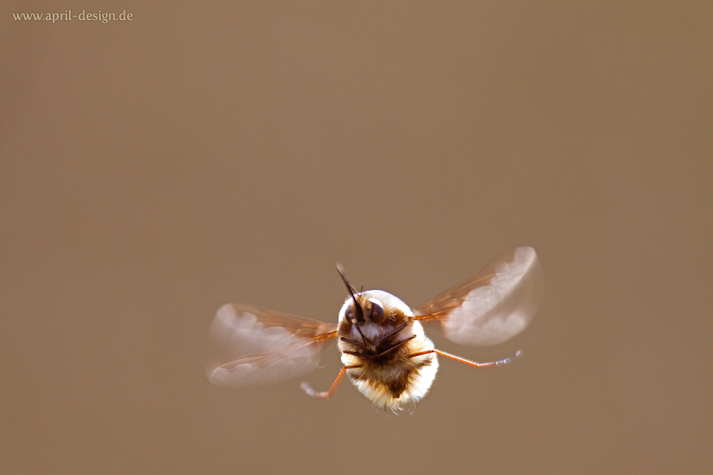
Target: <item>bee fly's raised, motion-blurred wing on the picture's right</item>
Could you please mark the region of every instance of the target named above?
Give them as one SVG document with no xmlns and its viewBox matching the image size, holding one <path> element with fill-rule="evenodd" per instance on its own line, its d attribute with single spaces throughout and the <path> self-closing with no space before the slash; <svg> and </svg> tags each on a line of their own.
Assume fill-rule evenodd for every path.
<svg viewBox="0 0 713 475">
<path fill-rule="evenodd" d="M 496 345 L 520 333 L 540 305 L 543 275 L 535 249 L 511 249 L 467 281 L 414 310 L 438 320 L 448 340 Z"/>
</svg>

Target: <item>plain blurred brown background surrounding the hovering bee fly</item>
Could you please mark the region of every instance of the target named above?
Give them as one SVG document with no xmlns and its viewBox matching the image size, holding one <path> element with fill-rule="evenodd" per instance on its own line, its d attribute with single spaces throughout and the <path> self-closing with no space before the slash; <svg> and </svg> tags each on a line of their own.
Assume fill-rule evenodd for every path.
<svg viewBox="0 0 713 475">
<path fill-rule="evenodd" d="M 4 4 L 0 472 L 713 470 L 709 2 Z M 11 12 L 132 12 L 131 22 Z M 208 384 L 222 303 L 545 300 L 411 416 Z M 307 376 L 326 389 L 336 348 Z"/>
</svg>

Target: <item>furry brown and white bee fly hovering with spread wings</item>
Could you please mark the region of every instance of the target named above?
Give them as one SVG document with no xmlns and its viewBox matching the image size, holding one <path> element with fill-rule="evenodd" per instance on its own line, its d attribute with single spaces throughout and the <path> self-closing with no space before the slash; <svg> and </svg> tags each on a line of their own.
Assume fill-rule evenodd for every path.
<svg viewBox="0 0 713 475">
<path fill-rule="evenodd" d="M 438 322 L 449 340 L 463 345 L 495 345 L 522 331 L 535 315 L 543 277 L 535 249 L 518 247 L 476 275 L 411 310 L 384 291 L 359 291 L 337 266 L 349 297 L 337 325 L 264 310 L 242 303 L 218 309 L 210 328 L 215 358 L 207 366 L 210 382 L 220 386 L 258 385 L 304 375 L 317 368 L 319 353 L 337 338 L 344 366 L 332 387 L 312 397 L 329 397 L 344 374 L 376 406 L 394 412 L 413 407 L 434 382 L 438 357 L 473 367 L 505 360 L 475 362 L 436 350 L 422 321 Z"/>
</svg>

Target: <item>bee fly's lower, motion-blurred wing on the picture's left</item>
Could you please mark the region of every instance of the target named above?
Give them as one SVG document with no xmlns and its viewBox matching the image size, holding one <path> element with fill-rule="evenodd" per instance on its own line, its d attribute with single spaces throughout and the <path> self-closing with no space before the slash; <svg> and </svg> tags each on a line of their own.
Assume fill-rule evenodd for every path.
<svg viewBox="0 0 713 475">
<path fill-rule="evenodd" d="M 227 303 L 210 326 L 208 380 L 249 386 L 304 375 L 319 365 L 324 342 L 336 336 L 331 323 Z"/>
</svg>

